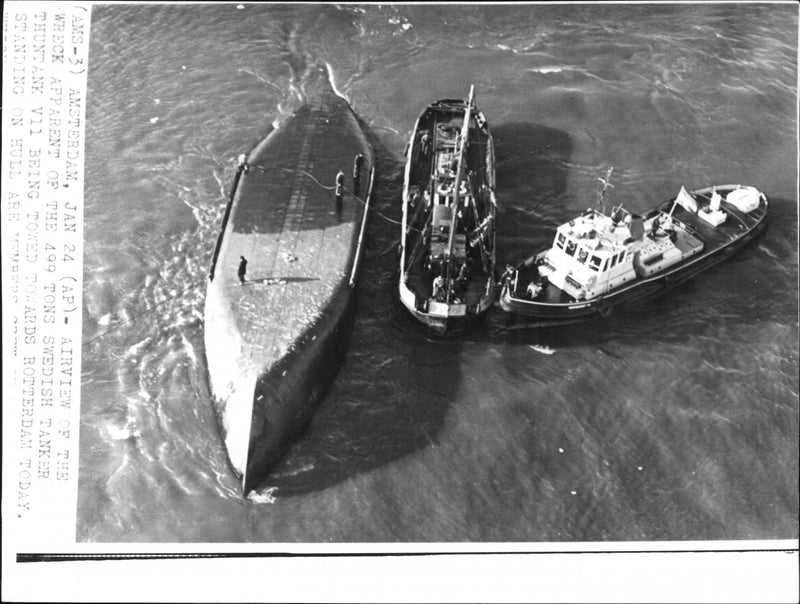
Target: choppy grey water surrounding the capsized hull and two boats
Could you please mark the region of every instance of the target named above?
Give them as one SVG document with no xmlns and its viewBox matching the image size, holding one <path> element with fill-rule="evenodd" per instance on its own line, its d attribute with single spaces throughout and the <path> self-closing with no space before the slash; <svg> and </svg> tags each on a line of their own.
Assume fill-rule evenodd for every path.
<svg viewBox="0 0 800 604">
<path fill-rule="evenodd" d="M 93 9 L 78 538 L 601 541 L 798 536 L 797 8 L 139 5 Z M 203 352 L 235 158 L 328 63 L 400 217 L 402 153 L 475 84 L 498 260 L 594 203 L 740 182 L 754 245 L 627 316 L 429 337 L 369 224 L 349 352 L 274 479 L 239 496 Z M 548 354 L 551 353 L 551 354 Z"/>
</svg>

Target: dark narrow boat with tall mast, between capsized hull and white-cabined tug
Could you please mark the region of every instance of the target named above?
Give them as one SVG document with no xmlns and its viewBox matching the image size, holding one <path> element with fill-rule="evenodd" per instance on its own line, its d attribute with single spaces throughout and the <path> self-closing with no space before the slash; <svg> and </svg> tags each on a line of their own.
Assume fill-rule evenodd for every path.
<svg viewBox="0 0 800 604">
<path fill-rule="evenodd" d="M 494 146 L 474 97 L 429 105 L 406 150 L 400 300 L 442 336 L 495 299 Z"/>
</svg>

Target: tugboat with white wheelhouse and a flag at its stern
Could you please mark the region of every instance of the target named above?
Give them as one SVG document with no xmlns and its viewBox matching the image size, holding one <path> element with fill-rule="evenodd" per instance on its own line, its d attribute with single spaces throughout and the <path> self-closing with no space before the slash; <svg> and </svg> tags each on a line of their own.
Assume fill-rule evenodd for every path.
<svg viewBox="0 0 800 604">
<path fill-rule="evenodd" d="M 609 317 L 650 300 L 727 258 L 766 225 L 767 196 L 752 186 L 717 185 L 678 195 L 645 215 L 597 207 L 556 229 L 552 247 L 502 277 L 500 305 L 551 323 Z"/>
</svg>

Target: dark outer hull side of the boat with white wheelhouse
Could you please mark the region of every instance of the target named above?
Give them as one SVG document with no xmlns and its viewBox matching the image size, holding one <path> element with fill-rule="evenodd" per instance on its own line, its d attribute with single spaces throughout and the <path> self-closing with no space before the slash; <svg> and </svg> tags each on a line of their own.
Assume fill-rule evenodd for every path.
<svg viewBox="0 0 800 604">
<path fill-rule="evenodd" d="M 719 264 L 756 239 L 765 226 L 766 222 L 761 222 L 753 230 L 730 245 L 696 259 L 683 268 L 672 269 L 661 277 L 651 277 L 624 291 L 612 293 L 591 301 L 570 304 L 538 304 L 512 296 L 506 283 L 503 285 L 503 291 L 500 296 L 500 307 L 513 315 L 539 319 L 542 321 L 542 326 L 550 322 L 565 325 L 592 319 L 607 319 L 620 308 L 632 308 L 651 301 L 678 285 L 690 281 L 699 273 Z"/>
</svg>

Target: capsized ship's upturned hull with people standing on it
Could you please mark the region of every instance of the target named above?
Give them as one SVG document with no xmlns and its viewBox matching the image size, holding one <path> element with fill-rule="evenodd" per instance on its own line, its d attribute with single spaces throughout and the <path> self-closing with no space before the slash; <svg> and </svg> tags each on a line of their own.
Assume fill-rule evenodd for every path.
<svg viewBox="0 0 800 604">
<path fill-rule="evenodd" d="M 209 382 L 244 494 L 308 421 L 346 343 L 374 158 L 327 73 L 317 78 L 317 93 L 240 166 L 209 275 Z M 347 176 L 337 209 L 340 170 Z"/>
</svg>

